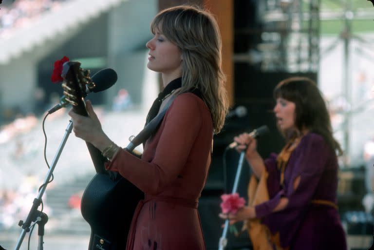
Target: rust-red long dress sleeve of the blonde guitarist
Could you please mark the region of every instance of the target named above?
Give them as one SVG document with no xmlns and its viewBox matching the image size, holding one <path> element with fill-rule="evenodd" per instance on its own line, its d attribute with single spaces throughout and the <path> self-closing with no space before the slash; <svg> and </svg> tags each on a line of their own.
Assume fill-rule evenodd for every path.
<svg viewBox="0 0 374 250">
<path fill-rule="evenodd" d="M 165 126 L 151 162 L 120 150 L 106 167 L 149 194 L 162 192 L 183 169 L 200 130 L 202 117 L 196 97 L 181 94 L 164 117 Z"/>
</svg>

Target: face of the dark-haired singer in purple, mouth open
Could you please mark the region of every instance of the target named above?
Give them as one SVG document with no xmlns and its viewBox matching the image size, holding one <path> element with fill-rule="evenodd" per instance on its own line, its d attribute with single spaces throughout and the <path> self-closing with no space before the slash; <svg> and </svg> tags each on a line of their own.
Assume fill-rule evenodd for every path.
<svg viewBox="0 0 374 250">
<path fill-rule="evenodd" d="M 278 127 L 283 130 L 295 129 L 295 108 L 296 105 L 292 101 L 278 97 L 277 104 L 274 107 L 275 117 Z"/>
</svg>

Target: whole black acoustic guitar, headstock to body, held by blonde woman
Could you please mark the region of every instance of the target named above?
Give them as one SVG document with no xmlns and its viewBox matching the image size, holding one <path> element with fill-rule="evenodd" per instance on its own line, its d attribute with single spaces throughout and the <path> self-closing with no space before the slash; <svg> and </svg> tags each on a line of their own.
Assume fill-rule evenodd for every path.
<svg viewBox="0 0 374 250">
<path fill-rule="evenodd" d="M 66 100 L 79 115 L 88 116 L 83 93 L 93 88 L 90 71 L 79 62 L 63 64 L 62 88 Z M 132 216 L 144 193 L 116 172 L 106 171 L 107 159 L 92 144 L 87 143 L 96 175 L 88 184 L 81 201 L 83 218 L 91 227 L 89 250 L 123 250 L 126 248 Z"/>
</svg>

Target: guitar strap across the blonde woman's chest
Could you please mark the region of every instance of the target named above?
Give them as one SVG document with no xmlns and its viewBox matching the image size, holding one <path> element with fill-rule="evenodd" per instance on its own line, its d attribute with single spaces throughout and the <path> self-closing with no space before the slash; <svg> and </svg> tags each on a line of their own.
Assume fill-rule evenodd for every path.
<svg viewBox="0 0 374 250">
<path fill-rule="evenodd" d="M 150 122 L 144 127 L 144 129 L 131 140 L 129 145 L 127 145 L 126 147 L 127 151 L 132 152 L 138 145 L 145 142 L 150 137 L 150 135 L 152 135 L 152 133 L 157 129 L 158 125 L 164 118 L 174 98 L 175 96 L 171 96 L 163 110 L 158 115 L 156 115 L 156 117 L 150 120 Z"/>
</svg>

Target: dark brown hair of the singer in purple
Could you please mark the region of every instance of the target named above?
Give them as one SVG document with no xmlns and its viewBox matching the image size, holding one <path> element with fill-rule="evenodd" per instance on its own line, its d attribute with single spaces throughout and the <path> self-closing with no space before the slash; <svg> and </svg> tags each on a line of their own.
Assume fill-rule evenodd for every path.
<svg viewBox="0 0 374 250">
<path fill-rule="evenodd" d="M 281 97 L 295 103 L 295 126 L 299 132 L 308 129 L 321 135 L 338 154 L 342 154 L 333 136 L 325 100 L 313 80 L 307 77 L 286 78 L 275 87 L 273 96 L 274 99 Z"/>
</svg>

